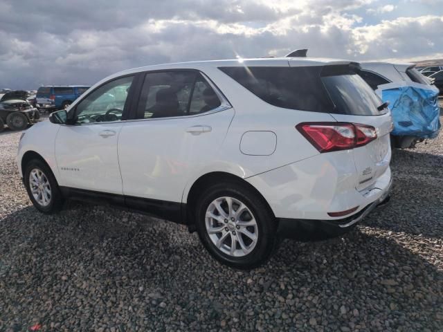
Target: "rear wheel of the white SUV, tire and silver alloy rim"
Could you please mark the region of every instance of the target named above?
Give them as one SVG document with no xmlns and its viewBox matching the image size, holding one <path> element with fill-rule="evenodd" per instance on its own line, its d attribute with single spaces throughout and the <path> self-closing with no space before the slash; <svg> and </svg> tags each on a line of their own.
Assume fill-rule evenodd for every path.
<svg viewBox="0 0 443 332">
<path fill-rule="evenodd" d="M 228 201 L 232 206 L 230 213 Z M 220 203 L 218 208 L 217 203 Z M 219 208 L 223 209 L 224 216 Z M 206 217 L 207 211 L 217 218 Z M 242 270 L 256 268 L 269 259 L 277 247 L 275 217 L 264 199 L 246 185 L 228 181 L 203 190 L 197 199 L 195 216 L 201 242 L 215 259 L 227 266 Z M 209 234 L 209 228 L 213 234 Z M 251 237 L 254 234 L 255 243 Z M 235 246 L 232 246 L 233 239 Z M 221 243 L 218 247 L 217 241 Z"/>
</svg>

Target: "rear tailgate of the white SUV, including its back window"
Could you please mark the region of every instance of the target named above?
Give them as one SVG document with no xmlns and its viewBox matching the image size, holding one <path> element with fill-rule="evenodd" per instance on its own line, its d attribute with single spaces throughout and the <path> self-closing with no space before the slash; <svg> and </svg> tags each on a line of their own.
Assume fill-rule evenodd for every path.
<svg viewBox="0 0 443 332">
<path fill-rule="evenodd" d="M 375 128 L 377 139 L 353 149 L 359 176 L 357 190 L 370 187 L 389 167 L 390 131 L 392 119 L 388 108 L 377 109 L 383 102 L 370 86 L 355 73 L 323 71 L 321 80 L 329 93 L 335 110 L 331 113 L 338 122 L 366 124 Z"/>
</svg>

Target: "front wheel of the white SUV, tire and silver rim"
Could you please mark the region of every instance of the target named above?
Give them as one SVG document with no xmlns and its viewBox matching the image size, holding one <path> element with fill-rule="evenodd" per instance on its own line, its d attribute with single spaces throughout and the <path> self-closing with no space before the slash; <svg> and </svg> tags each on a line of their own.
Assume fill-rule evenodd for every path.
<svg viewBox="0 0 443 332">
<path fill-rule="evenodd" d="M 33 178 L 32 183 L 31 177 Z M 42 160 L 33 159 L 26 164 L 24 184 L 29 199 L 37 210 L 45 214 L 53 214 L 62 210 L 64 203 L 62 193 L 53 172 Z M 39 189 L 37 189 L 38 184 L 40 184 Z M 43 194 L 42 191 L 45 191 L 47 188 L 49 189 L 49 194 L 47 191 Z"/>
</svg>

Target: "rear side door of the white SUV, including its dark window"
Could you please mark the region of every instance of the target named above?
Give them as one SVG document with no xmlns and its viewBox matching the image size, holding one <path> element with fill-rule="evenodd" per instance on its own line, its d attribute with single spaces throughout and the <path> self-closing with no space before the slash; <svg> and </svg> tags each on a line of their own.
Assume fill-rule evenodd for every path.
<svg viewBox="0 0 443 332">
<path fill-rule="evenodd" d="M 145 74 L 137 112 L 118 139 L 127 205 L 181 203 L 190 174 L 219 158 L 234 110 L 199 71 L 177 70 Z"/>
</svg>

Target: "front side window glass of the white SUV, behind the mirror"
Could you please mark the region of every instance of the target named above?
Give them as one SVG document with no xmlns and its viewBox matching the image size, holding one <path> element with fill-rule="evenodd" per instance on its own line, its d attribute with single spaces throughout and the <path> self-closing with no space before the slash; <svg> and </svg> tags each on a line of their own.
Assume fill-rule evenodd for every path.
<svg viewBox="0 0 443 332">
<path fill-rule="evenodd" d="M 87 95 L 75 108 L 76 123 L 109 122 L 122 119 L 134 76 L 120 77 Z"/>
</svg>

